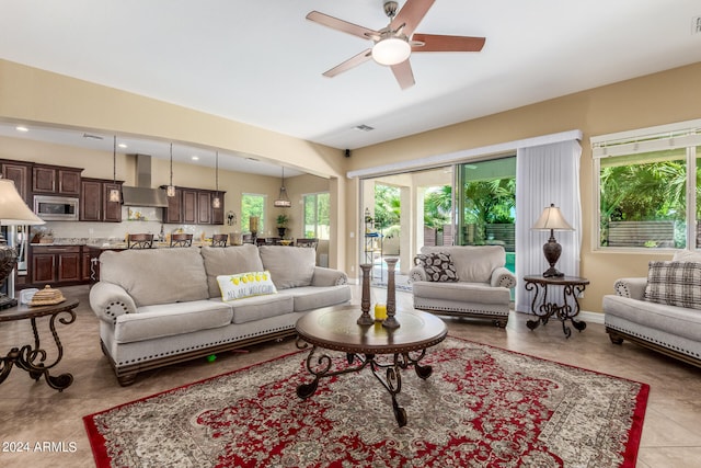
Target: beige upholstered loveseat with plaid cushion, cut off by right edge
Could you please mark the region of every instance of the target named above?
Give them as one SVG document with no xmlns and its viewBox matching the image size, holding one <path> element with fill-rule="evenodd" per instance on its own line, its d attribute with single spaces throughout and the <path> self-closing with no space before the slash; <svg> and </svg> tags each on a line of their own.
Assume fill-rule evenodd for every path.
<svg viewBox="0 0 701 468">
<path fill-rule="evenodd" d="M 696 260 L 696 261 L 694 261 Z M 647 277 L 616 281 L 604 296 L 606 331 L 701 367 L 701 258 L 686 252 L 650 262 Z"/>
</svg>

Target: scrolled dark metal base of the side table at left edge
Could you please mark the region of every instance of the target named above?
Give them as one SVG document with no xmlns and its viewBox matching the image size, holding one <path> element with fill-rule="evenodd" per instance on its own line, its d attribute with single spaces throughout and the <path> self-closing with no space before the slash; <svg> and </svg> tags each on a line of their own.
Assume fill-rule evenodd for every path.
<svg viewBox="0 0 701 468">
<path fill-rule="evenodd" d="M 19 368 L 26 370 L 34 380 L 37 380 L 44 376 L 46 379 L 46 384 L 49 387 L 64 391 L 65 388 L 70 387 L 73 383 L 73 376 L 71 374 L 61 374 L 58 376 L 53 376 L 49 374 L 49 370 L 54 368 L 64 357 L 64 346 L 61 345 L 61 341 L 58 338 L 58 332 L 56 331 L 56 320 L 61 324 L 70 324 L 76 321 L 76 312 L 72 310 L 78 305 L 78 301 L 74 303 L 70 308 L 57 308 L 54 311 L 49 311 L 46 313 L 38 313 L 37 316 L 50 315 L 49 319 L 49 330 L 51 331 L 51 335 L 54 336 L 54 343 L 56 344 L 56 349 L 58 351 L 58 355 L 56 359 L 48 364 L 46 363 L 47 352 L 46 350 L 41 347 L 39 343 L 39 333 L 36 327 L 36 317 L 25 316 L 20 317 L 14 320 L 20 320 L 22 318 L 30 318 L 32 321 L 32 331 L 34 332 L 34 345 L 25 344 L 22 347 L 12 347 L 5 357 L 0 358 L 0 384 L 2 384 L 10 372 L 12 370 L 13 365 L 16 365 Z M 46 308 L 44 308 L 46 309 Z M 68 315 L 68 317 L 58 317 L 61 313 Z"/>
</svg>

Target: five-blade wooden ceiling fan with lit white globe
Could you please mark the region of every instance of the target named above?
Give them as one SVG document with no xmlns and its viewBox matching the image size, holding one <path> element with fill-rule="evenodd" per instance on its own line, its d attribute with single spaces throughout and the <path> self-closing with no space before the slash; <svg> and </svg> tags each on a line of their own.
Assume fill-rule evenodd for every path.
<svg viewBox="0 0 701 468">
<path fill-rule="evenodd" d="M 404 7 L 398 12 L 398 2 L 386 1 L 384 13 L 390 19 L 390 23 L 379 31 L 358 26 L 318 11 L 310 12 L 307 15 L 310 21 L 375 43 L 372 47 L 324 71 L 323 76 L 332 78 L 374 59 L 380 65 L 390 67 L 400 88 L 406 89 L 415 83 L 412 66 L 409 62 L 412 52 L 482 50 L 484 37 L 414 34 L 414 30 L 434 2 L 435 0 L 406 0 Z"/>
</svg>

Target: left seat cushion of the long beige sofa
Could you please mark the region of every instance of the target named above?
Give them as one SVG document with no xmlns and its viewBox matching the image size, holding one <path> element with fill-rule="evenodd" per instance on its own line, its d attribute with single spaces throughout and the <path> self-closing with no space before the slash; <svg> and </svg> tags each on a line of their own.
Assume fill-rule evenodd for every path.
<svg viewBox="0 0 701 468">
<path fill-rule="evenodd" d="M 117 317 L 114 338 L 117 343 L 131 343 L 226 327 L 232 319 L 231 307 L 209 300 L 145 306 L 137 313 Z"/>
</svg>

